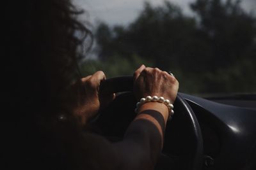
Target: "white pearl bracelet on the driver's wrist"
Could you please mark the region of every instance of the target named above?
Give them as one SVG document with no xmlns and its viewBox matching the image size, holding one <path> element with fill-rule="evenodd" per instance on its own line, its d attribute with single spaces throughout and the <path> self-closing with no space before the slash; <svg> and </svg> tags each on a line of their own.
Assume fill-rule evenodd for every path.
<svg viewBox="0 0 256 170">
<path fill-rule="evenodd" d="M 172 118 L 174 111 L 173 111 L 173 104 L 170 103 L 168 99 L 164 99 L 164 97 L 157 97 L 157 96 L 147 96 L 146 98 L 141 98 L 140 102 L 136 104 L 135 113 L 138 113 L 138 109 L 142 104 L 148 103 L 148 102 L 158 102 L 163 103 L 167 106 L 169 111 L 169 117 L 168 119 Z"/>
</svg>

